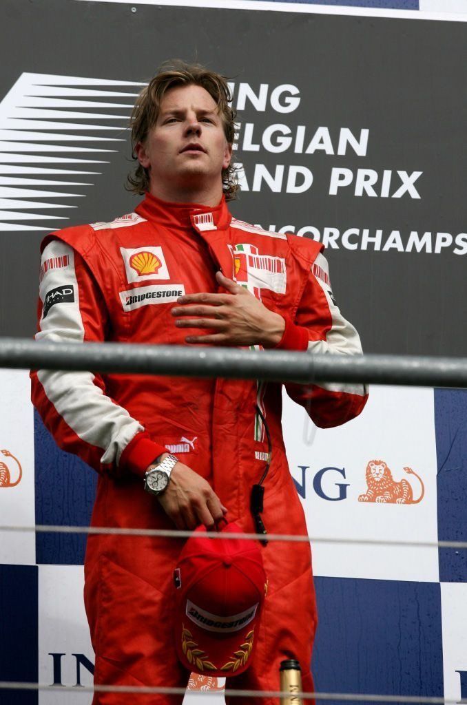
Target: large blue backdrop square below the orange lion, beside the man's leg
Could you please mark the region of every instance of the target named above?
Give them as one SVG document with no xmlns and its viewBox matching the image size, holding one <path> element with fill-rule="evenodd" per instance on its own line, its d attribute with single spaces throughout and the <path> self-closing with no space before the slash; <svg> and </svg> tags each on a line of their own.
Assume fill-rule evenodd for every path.
<svg viewBox="0 0 467 705">
<path fill-rule="evenodd" d="M 317 691 L 443 695 L 439 583 L 317 577 L 315 586 Z"/>
</svg>

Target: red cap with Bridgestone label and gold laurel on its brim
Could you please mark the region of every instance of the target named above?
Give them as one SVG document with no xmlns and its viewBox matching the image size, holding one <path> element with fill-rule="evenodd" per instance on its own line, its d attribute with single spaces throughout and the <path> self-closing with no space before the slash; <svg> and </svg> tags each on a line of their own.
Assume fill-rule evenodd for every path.
<svg viewBox="0 0 467 705">
<path fill-rule="evenodd" d="M 227 524 L 222 533 L 242 533 Z M 178 568 L 175 639 L 183 666 L 202 675 L 238 675 L 250 666 L 267 577 L 256 541 L 210 539 L 198 527 Z"/>
</svg>

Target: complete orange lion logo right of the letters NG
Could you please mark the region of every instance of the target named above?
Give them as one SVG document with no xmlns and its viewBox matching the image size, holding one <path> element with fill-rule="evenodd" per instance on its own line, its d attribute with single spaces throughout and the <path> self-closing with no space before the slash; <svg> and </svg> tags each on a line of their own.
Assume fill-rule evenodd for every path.
<svg viewBox="0 0 467 705">
<path fill-rule="evenodd" d="M 425 496 L 425 485 L 421 477 L 413 472 L 411 467 L 404 467 L 404 470 L 420 481 L 421 494 L 418 499 L 413 499 L 411 484 L 406 479 L 396 482 L 392 477 L 392 472 L 387 467 L 384 460 L 370 460 L 366 466 L 366 482 L 368 489 L 365 494 L 358 496 L 359 502 L 377 502 L 387 504 L 418 504 Z"/>
</svg>

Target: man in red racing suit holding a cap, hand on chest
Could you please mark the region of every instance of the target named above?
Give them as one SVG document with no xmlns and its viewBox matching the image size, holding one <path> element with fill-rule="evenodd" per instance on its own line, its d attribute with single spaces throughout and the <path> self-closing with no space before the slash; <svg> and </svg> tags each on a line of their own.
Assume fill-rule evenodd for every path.
<svg viewBox="0 0 467 705">
<path fill-rule="evenodd" d="M 178 62 L 152 79 L 132 116 L 138 168 L 130 181 L 145 200 L 111 223 L 44 240 L 38 340 L 361 352 L 332 299 L 322 245 L 231 217 L 233 120 L 218 74 Z M 367 398 L 360 385 L 286 388 L 321 427 L 355 417 Z M 306 534 L 281 435 L 279 384 L 40 370 L 32 398 L 59 445 L 99 472 L 93 525 L 212 528 L 228 513 L 247 532 L 264 522 L 269 533 Z M 253 490 L 258 485 L 264 489 Z M 171 584 L 183 543 L 88 539 L 96 683 L 186 685 Z M 226 673 L 227 685 L 279 689 L 280 661 L 298 658 L 311 690 L 310 548 L 274 542 L 261 550 L 269 589 L 255 657 L 245 673 Z M 181 700 L 131 696 L 148 705 Z M 95 694 L 93 703 L 125 701 Z"/>
</svg>

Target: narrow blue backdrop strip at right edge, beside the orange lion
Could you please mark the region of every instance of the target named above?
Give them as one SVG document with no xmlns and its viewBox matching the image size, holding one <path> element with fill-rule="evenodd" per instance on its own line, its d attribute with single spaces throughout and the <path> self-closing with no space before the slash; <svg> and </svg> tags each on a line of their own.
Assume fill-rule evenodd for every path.
<svg viewBox="0 0 467 705">
<path fill-rule="evenodd" d="M 438 538 L 467 541 L 467 391 L 435 389 Z M 439 551 L 439 580 L 467 582 L 467 551 Z"/>
</svg>

